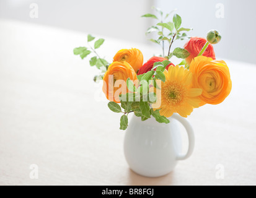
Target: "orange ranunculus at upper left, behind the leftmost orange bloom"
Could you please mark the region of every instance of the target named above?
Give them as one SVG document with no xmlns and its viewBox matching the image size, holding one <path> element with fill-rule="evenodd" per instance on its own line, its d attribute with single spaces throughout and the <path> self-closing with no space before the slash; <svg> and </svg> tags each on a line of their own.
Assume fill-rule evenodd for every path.
<svg viewBox="0 0 256 198">
<path fill-rule="evenodd" d="M 139 68 L 143 65 L 143 54 L 139 49 L 121 49 L 115 54 L 113 61 L 128 62 L 131 67 L 138 72 Z"/>
</svg>

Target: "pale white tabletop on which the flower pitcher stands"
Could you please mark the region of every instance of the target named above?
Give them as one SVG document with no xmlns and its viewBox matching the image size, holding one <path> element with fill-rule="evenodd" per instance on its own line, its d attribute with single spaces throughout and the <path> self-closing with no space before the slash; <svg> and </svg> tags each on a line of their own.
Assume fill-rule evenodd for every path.
<svg viewBox="0 0 256 198">
<path fill-rule="evenodd" d="M 256 65 L 226 60 L 231 95 L 188 118 L 196 136 L 192 157 L 166 176 L 144 178 L 125 161 L 120 115 L 104 97 L 99 101 L 97 69 L 73 55 L 86 35 L 0 20 L 1 185 L 256 184 Z M 111 61 L 118 49 L 131 47 L 145 60 L 155 53 L 113 38 L 100 51 Z M 38 179 L 30 178 L 32 164 Z M 224 179 L 216 178 L 219 167 Z"/>
</svg>

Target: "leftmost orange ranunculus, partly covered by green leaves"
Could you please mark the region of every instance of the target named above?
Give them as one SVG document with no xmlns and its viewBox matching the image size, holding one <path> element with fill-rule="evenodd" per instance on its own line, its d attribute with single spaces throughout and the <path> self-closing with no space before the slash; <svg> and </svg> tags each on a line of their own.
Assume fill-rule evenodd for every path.
<svg viewBox="0 0 256 198">
<path fill-rule="evenodd" d="M 128 62 L 113 62 L 108 67 L 103 78 L 103 92 L 110 101 L 120 103 L 119 95 L 128 93 L 126 80 L 137 80 L 137 75 L 133 67 Z"/>
</svg>

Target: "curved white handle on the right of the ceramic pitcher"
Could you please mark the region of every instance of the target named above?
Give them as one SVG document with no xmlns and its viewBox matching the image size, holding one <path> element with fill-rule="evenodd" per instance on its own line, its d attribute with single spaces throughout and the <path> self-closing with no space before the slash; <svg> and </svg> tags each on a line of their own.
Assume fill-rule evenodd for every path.
<svg viewBox="0 0 256 198">
<path fill-rule="evenodd" d="M 193 128 L 191 126 L 191 124 L 187 121 L 187 119 L 183 118 L 182 116 L 180 116 L 179 114 L 173 114 L 172 118 L 176 119 L 177 121 L 179 121 L 180 123 L 182 123 L 182 125 L 185 127 L 187 134 L 188 134 L 188 151 L 187 153 L 184 154 L 177 154 L 177 160 L 186 160 L 187 158 L 189 158 L 194 150 L 195 147 L 195 136 L 194 136 L 194 132 L 193 132 Z"/>
</svg>

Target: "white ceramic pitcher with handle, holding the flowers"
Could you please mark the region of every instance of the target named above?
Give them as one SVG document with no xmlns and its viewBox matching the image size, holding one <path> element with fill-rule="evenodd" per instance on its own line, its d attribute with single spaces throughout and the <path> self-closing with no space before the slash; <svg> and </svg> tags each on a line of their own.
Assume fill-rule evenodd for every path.
<svg viewBox="0 0 256 198">
<path fill-rule="evenodd" d="M 175 120 L 185 127 L 188 134 L 188 151 L 181 154 L 181 136 Z M 192 155 L 195 145 L 193 129 L 187 119 L 173 114 L 169 124 L 157 123 L 154 118 L 141 121 L 133 116 L 125 134 L 125 158 L 131 170 L 147 177 L 159 177 L 170 173 L 177 161 Z"/>
</svg>

